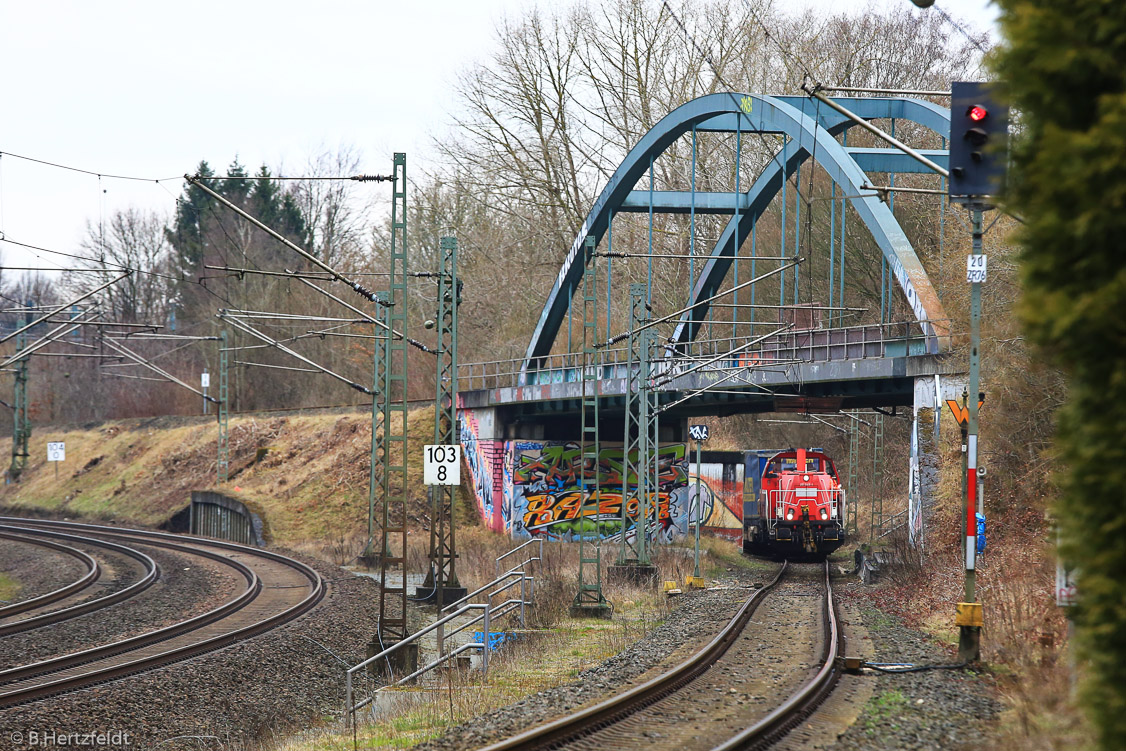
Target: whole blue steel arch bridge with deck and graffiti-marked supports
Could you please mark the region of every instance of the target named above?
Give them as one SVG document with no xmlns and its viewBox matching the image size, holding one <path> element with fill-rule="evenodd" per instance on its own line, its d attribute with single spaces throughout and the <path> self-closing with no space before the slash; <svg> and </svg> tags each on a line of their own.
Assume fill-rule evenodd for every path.
<svg viewBox="0 0 1126 751">
<path fill-rule="evenodd" d="M 900 120 L 914 123 L 941 136 L 944 144 L 949 134 L 949 110 L 929 101 L 903 97 L 837 98 L 835 101 L 864 119 L 891 119 L 893 131 L 894 123 Z M 458 368 L 461 442 L 465 447 L 476 502 L 491 528 L 511 534 L 522 529 L 518 507 L 526 502 L 526 498 L 519 500 L 526 488 L 515 477 L 515 470 L 521 461 L 518 455 L 522 456 L 524 450 L 535 454 L 537 446 L 551 445 L 561 452 L 571 450 L 575 456 L 582 453 L 586 463 L 588 445 L 597 447 L 599 440 L 609 441 L 611 448 L 607 450 L 617 452 L 625 466 L 633 462 L 628 458 L 633 453 L 637 456 L 637 466 L 649 466 L 663 450 L 661 446 L 672 446 L 677 441 L 681 441 L 681 447 L 687 444 L 688 419 L 692 415 L 815 413 L 897 406 L 913 408 L 910 495 L 914 509 L 912 525 L 917 525 L 921 519 L 919 510 L 933 497 L 931 458 L 938 437 L 939 408 L 942 399 L 951 395 L 950 390 L 960 391 L 962 387 L 956 378 L 941 383 L 940 378 L 958 376 L 960 369 L 946 356 L 950 350 L 951 330 L 919 256 L 892 207 L 876 190 L 864 190 L 869 185 L 868 172 L 926 173 L 929 168 L 899 150 L 848 146 L 847 132 L 855 125 L 846 116 L 805 97 L 715 93 L 681 105 L 637 142 L 608 179 L 577 232 L 524 356 L 506 361 L 463 364 Z M 749 189 L 742 190 L 736 182 L 734 191 L 697 191 L 697 133 L 770 134 L 783 138 L 780 149 L 750 181 Z M 651 171 L 653 161 L 688 134 L 694 137 L 692 189 L 658 191 L 652 182 L 647 190 L 636 189 Z M 842 135 L 846 137 L 839 141 Z M 939 166 L 948 163 L 945 149 L 921 151 Z M 738 154 L 736 145 L 736 159 Z M 753 238 L 756 223 L 785 190 L 792 176 L 810 161 L 840 189 L 838 198 L 842 206 L 846 199 L 852 206 L 855 216 L 859 217 L 886 261 L 890 278 L 901 290 L 913 320 L 888 324 L 881 315 L 881 325 L 813 327 L 786 333 L 783 338 L 788 338 L 788 343 L 778 345 L 769 363 L 754 358 L 744 363 L 742 357 L 734 355 L 735 349 L 716 347 L 715 341 L 699 336 L 708 318 L 709 301 L 721 292 L 721 285 L 732 270 L 738 269 L 736 259 L 758 257 L 756 252 L 750 257 L 740 256 L 740 248 L 749 236 Z M 785 204 L 784 200 L 784 207 Z M 584 340 L 580 347 L 587 351 L 562 355 L 555 351 L 560 349 L 556 340 L 563 323 L 568 322 L 570 329 L 574 301 L 586 306 L 592 299 L 583 283 L 593 276 L 587 271 L 595 268 L 599 243 L 606 239 L 610 244 L 615 216 L 642 212 L 651 217 L 658 213 L 727 217 L 725 223 L 721 222 L 724 226 L 714 242 L 709 241 L 713 243 L 711 250 L 705 248 L 705 252 L 695 256 L 698 266 L 690 275 L 691 286 L 683 312 L 674 320 L 672 336 L 660 348 L 663 356 L 656 356 L 662 360 L 656 365 L 662 375 L 646 388 L 641 388 L 640 384 L 649 376 L 641 375 L 643 370 L 633 357 L 632 346 L 625 360 L 615 359 L 617 354 L 609 356 L 607 349 L 602 349 L 598 358 L 590 357 L 593 350 L 587 341 L 587 307 L 583 307 Z M 841 223 L 843 227 L 843 217 Z M 784 252 L 778 257 L 763 257 L 763 260 L 788 259 L 785 235 L 781 248 Z M 653 254 L 652 241 L 649 253 Z M 841 263 L 843 269 L 843 261 Z M 734 276 L 738 285 L 738 270 Z M 830 288 L 832 286 L 831 283 Z M 646 288 L 652 290 L 652 285 Z M 631 290 L 631 296 L 635 294 Z M 890 298 L 891 289 L 887 294 Z M 781 301 L 778 307 L 790 307 L 785 302 Z M 796 298 L 794 302 L 797 306 Z M 832 306 L 830 297 L 829 307 Z M 733 314 L 733 322 L 735 318 Z M 902 336 L 885 337 L 885 330 L 891 327 L 896 327 Z M 609 333 L 609 325 L 605 328 Z M 599 330 L 597 321 L 593 330 L 596 333 Z M 866 338 L 869 330 L 877 331 L 875 340 Z M 854 340 L 854 333 L 859 333 L 860 339 Z M 777 336 L 777 332 L 768 336 Z M 734 331 L 731 341 L 735 341 Z M 720 355 L 713 358 L 705 354 L 707 347 L 718 350 Z M 570 346 L 566 349 L 571 349 Z M 767 357 L 765 348 L 759 354 Z M 721 357 L 723 360 L 716 363 Z M 645 356 L 645 367 L 653 361 Z M 683 365 L 701 361 L 708 367 L 711 363 L 716 365 L 713 370 Z M 739 381 L 731 382 L 732 375 L 739 376 Z M 724 383 L 727 385 L 722 385 Z M 647 396 L 641 396 L 642 391 Z M 644 412 L 638 411 L 641 399 L 652 400 Z M 591 412 L 595 414 L 593 428 L 588 422 Z M 659 424 L 654 414 L 662 414 Z M 632 442 L 643 433 L 646 438 L 642 442 L 647 448 Z M 581 448 L 577 448 L 579 444 Z M 620 448 L 616 448 L 618 445 Z M 629 476 L 628 470 L 624 472 Z M 644 494 L 641 490 L 637 493 L 638 497 Z M 879 513 L 882 519 L 883 511 Z"/>
</svg>

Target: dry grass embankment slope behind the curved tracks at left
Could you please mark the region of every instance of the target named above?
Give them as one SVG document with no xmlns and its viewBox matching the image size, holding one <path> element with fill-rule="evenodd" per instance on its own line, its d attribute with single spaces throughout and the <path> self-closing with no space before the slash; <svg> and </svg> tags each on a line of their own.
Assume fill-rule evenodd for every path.
<svg viewBox="0 0 1126 751">
<path fill-rule="evenodd" d="M 421 446 L 432 410 L 415 410 L 408 421 L 408 515 L 425 531 Z M 36 430 L 30 464 L 19 483 L 0 486 L 0 504 L 160 526 L 187 507 L 190 491 L 215 486 L 216 437 L 213 421 L 188 418 Z M 45 461 L 46 442 L 55 440 L 66 441 L 57 479 Z M 231 481 L 223 491 L 261 509 L 274 542 L 323 540 L 306 547 L 321 548 L 325 560 L 346 561 L 366 540 L 370 445 L 370 414 L 363 411 L 238 417 L 231 420 Z"/>
</svg>

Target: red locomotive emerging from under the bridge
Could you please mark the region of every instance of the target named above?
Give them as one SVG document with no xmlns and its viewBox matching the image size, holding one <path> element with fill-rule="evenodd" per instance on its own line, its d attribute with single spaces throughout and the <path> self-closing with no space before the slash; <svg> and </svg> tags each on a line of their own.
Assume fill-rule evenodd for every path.
<svg viewBox="0 0 1126 751">
<path fill-rule="evenodd" d="M 754 481 L 754 499 L 743 506 L 744 553 L 824 557 L 844 543 L 844 489 L 823 452 L 778 452 Z"/>
</svg>

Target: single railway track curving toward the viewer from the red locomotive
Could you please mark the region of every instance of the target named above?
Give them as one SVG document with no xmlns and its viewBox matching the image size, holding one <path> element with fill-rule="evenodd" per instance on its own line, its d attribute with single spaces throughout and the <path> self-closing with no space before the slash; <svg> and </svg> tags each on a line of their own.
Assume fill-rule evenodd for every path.
<svg viewBox="0 0 1126 751">
<path fill-rule="evenodd" d="M 692 656 L 645 682 L 596 705 L 560 717 L 499 743 L 483 751 L 529 751 L 531 749 L 610 749 L 635 748 L 709 748 L 715 751 L 760 749 L 777 742 L 789 730 L 807 717 L 832 691 L 839 668 L 837 658 L 841 632 L 834 613 L 832 588 L 828 564 L 821 572 L 823 594 L 811 601 L 808 591 L 797 591 L 790 598 L 804 598 L 804 605 L 786 604 L 776 609 L 784 614 L 810 615 L 813 623 L 807 625 L 811 654 L 797 651 L 802 640 L 785 641 L 777 645 L 774 656 L 783 660 L 785 669 L 801 672 L 805 661 L 812 661 L 812 676 L 802 676 L 796 690 L 780 704 L 763 714 L 763 707 L 748 707 L 745 712 L 758 716 L 748 717 L 733 697 L 735 683 L 747 676 L 745 662 L 741 662 L 751 644 L 762 645 L 763 634 L 752 633 L 752 616 L 771 597 L 779 584 L 790 574 L 792 565 L 784 564 L 777 576 L 743 604 L 735 616 L 704 649 Z M 807 590 L 808 588 L 804 588 Z M 797 617 L 794 615 L 794 617 Z M 792 626 L 787 625 L 787 628 Z M 756 626 L 758 628 L 758 626 Z M 812 653 L 814 645 L 820 650 Z M 735 647 L 732 650 L 732 647 Z M 787 653 L 787 650 L 794 651 Z M 760 665 L 761 669 L 762 665 Z M 723 687 L 729 688 L 724 689 Z M 730 691 L 730 694 L 729 694 Z M 763 699 L 766 697 L 756 697 Z M 743 703 L 740 701 L 740 705 Z M 701 725 L 715 722 L 715 727 L 701 730 Z M 679 723 L 679 728 L 674 727 Z M 671 732 L 668 728 L 673 728 Z M 679 734 L 678 734 L 679 731 Z"/>
</svg>

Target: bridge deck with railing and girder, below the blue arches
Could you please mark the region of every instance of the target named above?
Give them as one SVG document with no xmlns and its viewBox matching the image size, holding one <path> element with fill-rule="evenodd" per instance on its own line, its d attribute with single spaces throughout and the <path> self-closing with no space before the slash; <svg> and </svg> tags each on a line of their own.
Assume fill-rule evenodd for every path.
<svg viewBox="0 0 1126 751">
<path fill-rule="evenodd" d="M 915 378 L 962 372 L 946 355 L 929 354 L 931 342 L 911 329 L 895 323 L 789 331 L 735 355 L 727 352 L 745 339 L 694 342 L 688 351 L 670 351 L 653 364 L 653 385 L 667 408 L 662 417 L 669 418 L 908 406 Z M 597 369 L 607 417 L 625 408 L 629 366 L 624 358 L 625 350 L 608 350 Z M 522 360 L 462 365 L 462 405 L 512 408 L 531 419 L 577 414 L 581 355 L 545 360 L 544 368 L 529 372 L 520 370 Z"/>
</svg>

